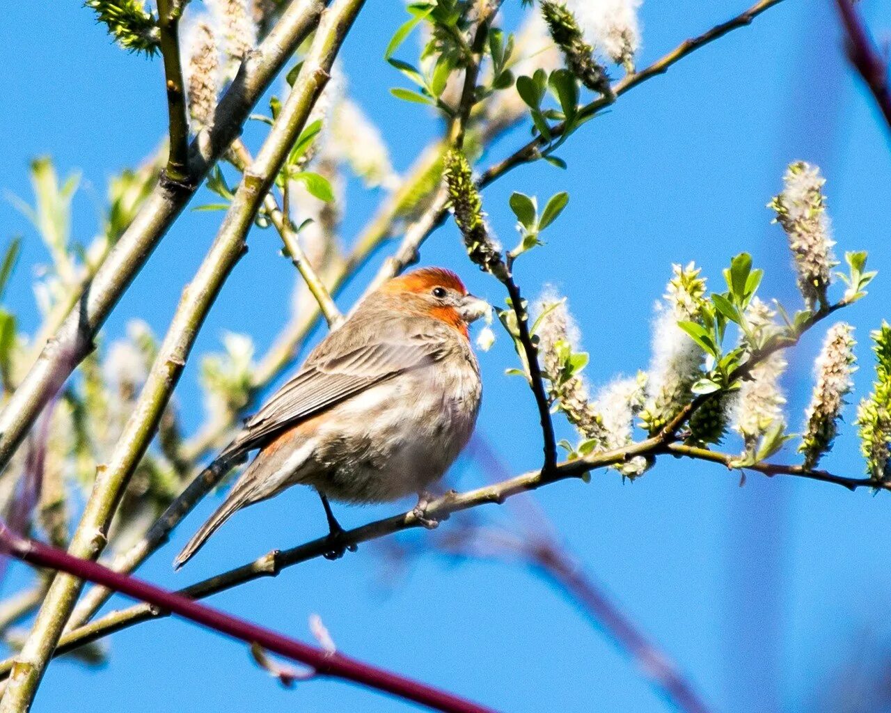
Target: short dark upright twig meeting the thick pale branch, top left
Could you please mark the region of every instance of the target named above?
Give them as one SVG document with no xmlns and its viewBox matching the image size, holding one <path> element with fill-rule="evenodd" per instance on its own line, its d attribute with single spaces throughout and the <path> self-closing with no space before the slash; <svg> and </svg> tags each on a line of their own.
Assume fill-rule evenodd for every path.
<svg viewBox="0 0 891 713">
<path fill-rule="evenodd" d="M 158 0 L 158 28 L 161 55 L 164 58 L 164 86 L 167 90 L 170 142 L 165 179 L 175 184 L 188 184 L 189 122 L 185 118 L 183 65 L 179 54 L 179 19 L 183 0 Z"/>
</svg>

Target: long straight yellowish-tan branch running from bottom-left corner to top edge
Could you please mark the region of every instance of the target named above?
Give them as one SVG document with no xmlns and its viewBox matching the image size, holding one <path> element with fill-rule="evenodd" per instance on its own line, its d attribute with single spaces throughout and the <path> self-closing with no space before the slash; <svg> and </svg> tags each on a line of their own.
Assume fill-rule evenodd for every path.
<svg viewBox="0 0 891 713">
<path fill-rule="evenodd" d="M 154 435 L 200 326 L 226 277 L 241 258 L 245 238 L 264 196 L 306 125 L 310 111 L 328 82 L 340 45 L 363 4 L 364 0 L 339 0 L 324 14 L 307 60 L 278 120 L 257 154 L 257 160 L 244 172 L 208 257 L 184 291 L 168 335 L 110 463 L 97 469 L 93 493 L 69 547 L 75 557 L 94 559 L 102 552 L 120 496 Z M 67 576 L 53 580 L 37 613 L 34 628 L 17 657 L 15 676 L 0 701 L 0 713 L 24 713 L 29 709 L 82 586 L 83 582 Z"/>
</svg>

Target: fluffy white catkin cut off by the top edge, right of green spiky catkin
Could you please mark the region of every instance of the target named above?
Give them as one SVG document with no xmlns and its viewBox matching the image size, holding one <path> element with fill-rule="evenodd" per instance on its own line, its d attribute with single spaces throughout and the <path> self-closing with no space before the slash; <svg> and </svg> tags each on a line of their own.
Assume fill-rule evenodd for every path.
<svg viewBox="0 0 891 713">
<path fill-rule="evenodd" d="M 567 0 L 585 40 L 617 64 L 632 67 L 641 45 L 642 0 Z"/>
</svg>

